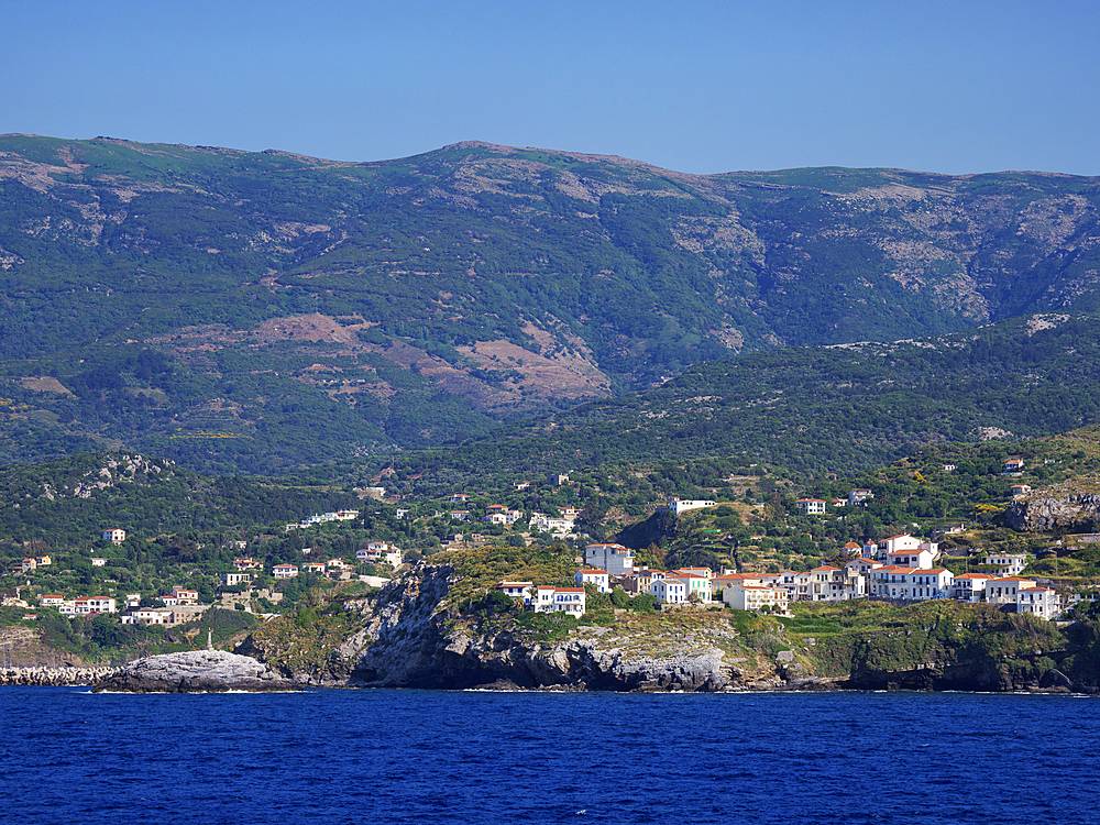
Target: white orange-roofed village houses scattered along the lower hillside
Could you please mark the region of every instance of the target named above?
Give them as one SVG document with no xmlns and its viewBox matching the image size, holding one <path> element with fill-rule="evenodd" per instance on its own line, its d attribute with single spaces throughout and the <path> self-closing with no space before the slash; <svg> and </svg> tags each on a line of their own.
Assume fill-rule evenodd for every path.
<svg viewBox="0 0 1100 825">
<path fill-rule="evenodd" d="M 1005 461 L 1002 475 L 1019 475 L 1023 462 L 1010 458 Z M 953 465 L 945 465 L 944 472 L 952 472 Z M 568 474 L 552 474 L 547 483 L 550 487 L 561 487 L 569 482 Z M 530 488 L 531 482 L 520 481 L 512 485 L 517 493 Z M 380 496 L 381 487 L 372 487 Z M 1027 492 L 1026 485 L 1013 485 L 1013 495 Z M 482 494 L 484 495 L 484 494 Z M 882 600 L 892 603 L 913 603 L 928 600 L 957 600 L 969 603 L 985 603 L 1001 606 L 1007 610 L 1028 613 L 1044 619 L 1055 619 L 1071 608 L 1082 596 L 1066 588 L 1055 588 L 1049 580 L 1021 575 L 1028 564 L 1024 553 L 992 553 L 975 558 L 974 572 L 959 571 L 958 557 L 952 557 L 950 566 L 944 563 L 941 547 L 935 540 L 927 540 L 909 534 L 892 536 L 880 541 L 862 544 L 849 541 L 839 548 L 839 553 L 831 556 L 828 563 L 821 563 L 806 570 L 781 569 L 769 564 L 767 571 L 746 570 L 740 562 L 735 566 L 690 565 L 663 570 L 652 564 L 652 556 L 647 563 L 636 565 L 637 552 L 615 542 L 582 544 L 585 534 L 578 530 L 581 510 L 576 507 L 559 505 L 552 515 L 543 512 L 522 512 L 516 506 L 498 503 L 475 504 L 466 493 L 452 493 L 444 499 L 450 509 L 439 508 L 426 517 L 450 522 L 463 531 L 447 535 L 442 549 L 481 547 L 492 543 L 493 536 L 482 536 L 469 527 L 482 522 L 490 529 L 510 530 L 513 537 L 522 537 L 530 543 L 542 535 L 547 539 L 571 542 L 578 551 L 572 586 L 558 586 L 531 581 L 501 581 L 497 590 L 520 601 L 525 607 L 540 613 L 565 613 L 581 616 L 586 609 L 586 598 L 592 594 L 609 594 L 616 587 L 630 595 L 650 595 L 658 609 L 692 607 L 713 608 L 724 606 L 737 610 L 751 610 L 779 615 L 791 615 L 796 603 L 835 603 L 850 600 Z M 794 513 L 802 516 L 825 517 L 826 514 L 855 512 L 866 507 L 875 498 L 869 488 L 856 487 L 845 498 L 825 501 L 821 498 L 799 498 Z M 476 510 L 471 506 L 477 507 Z M 654 515 L 671 514 L 679 519 L 695 510 L 718 510 L 723 507 L 714 499 L 688 499 L 670 497 L 656 507 Z M 396 506 L 392 517 L 402 520 L 408 517 L 410 508 Z M 286 524 L 284 532 L 308 530 L 330 522 L 354 522 L 360 517 L 355 509 L 342 509 L 315 514 L 299 521 Z M 960 530 L 952 528 L 946 532 Z M 518 532 L 517 532 L 518 531 Z M 498 540 L 499 537 L 496 537 Z M 754 536 L 752 539 L 762 537 Z M 124 529 L 112 527 L 102 532 L 102 541 L 114 547 L 127 540 Z M 246 542 L 234 546 L 244 550 Z M 232 560 L 232 570 L 221 572 L 216 592 L 208 592 L 208 598 L 200 603 L 199 591 L 193 586 L 173 585 L 151 597 L 146 592 L 118 592 L 111 595 L 101 587 L 99 593 L 68 596 L 43 592 L 31 586 L 31 575 L 36 569 L 52 564 L 50 556 L 28 557 L 9 573 L 26 578 L 29 600 L 23 600 L 18 587 L 12 604 L 31 607 L 36 598 L 37 606 L 57 609 L 68 617 L 92 617 L 108 614 L 118 615 L 121 624 L 150 626 L 175 626 L 190 622 L 213 606 L 262 614 L 276 615 L 277 606 L 284 598 L 285 584 L 299 575 L 317 576 L 317 581 L 358 581 L 367 587 L 381 587 L 391 581 L 394 572 L 406 564 L 406 553 L 389 541 L 366 541 L 354 551 L 354 556 L 320 556 L 322 551 L 305 547 L 301 559 L 289 561 L 261 561 L 248 556 Z M 285 558 L 285 557 L 284 557 Z M 408 559 L 419 560 L 414 553 Z M 103 556 L 92 556 L 92 566 L 108 563 Z M 117 562 L 114 562 L 117 563 Z M 759 566 L 759 565 L 755 565 Z M 805 565 L 810 566 L 810 565 Z M 386 571 L 394 571 L 388 574 Z M 108 580 L 109 581 L 109 580 Z M 314 580 L 310 580 L 314 581 Z M 258 582 L 258 584 L 257 584 Z"/>
</svg>

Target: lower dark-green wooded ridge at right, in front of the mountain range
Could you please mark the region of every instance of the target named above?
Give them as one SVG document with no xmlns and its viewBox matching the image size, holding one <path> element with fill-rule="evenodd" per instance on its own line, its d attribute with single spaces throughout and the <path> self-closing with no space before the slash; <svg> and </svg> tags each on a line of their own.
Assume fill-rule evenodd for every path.
<svg viewBox="0 0 1100 825">
<path fill-rule="evenodd" d="M 1076 429 L 1100 421 L 1098 399 L 1100 319 L 1037 315 L 936 338 L 696 364 L 661 387 L 505 426 L 442 457 L 394 460 L 400 472 L 387 484 L 428 470 L 532 474 L 714 461 L 726 472 L 767 463 L 821 480 L 926 444 Z"/>
</svg>

